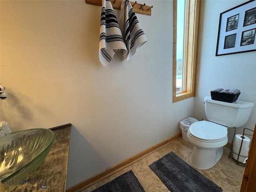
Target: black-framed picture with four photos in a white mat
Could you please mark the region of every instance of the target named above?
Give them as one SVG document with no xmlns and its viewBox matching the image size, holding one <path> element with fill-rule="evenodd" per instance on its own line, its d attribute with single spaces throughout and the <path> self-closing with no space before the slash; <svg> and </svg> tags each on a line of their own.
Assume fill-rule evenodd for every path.
<svg viewBox="0 0 256 192">
<path fill-rule="evenodd" d="M 256 51 L 256 0 L 220 14 L 216 56 Z"/>
</svg>

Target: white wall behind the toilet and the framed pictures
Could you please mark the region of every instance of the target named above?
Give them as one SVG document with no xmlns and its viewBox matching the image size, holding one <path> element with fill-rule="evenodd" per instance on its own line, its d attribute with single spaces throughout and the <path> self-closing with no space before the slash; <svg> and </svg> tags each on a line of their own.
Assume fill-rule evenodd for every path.
<svg viewBox="0 0 256 192">
<path fill-rule="evenodd" d="M 215 88 L 241 91 L 238 100 L 253 102 L 254 108 L 248 122 L 237 128 L 236 134 L 243 128 L 254 130 L 256 122 L 256 52 L 246 52 L 225 56 L 215 56 L 218 37 L 220 13 L 238 6 L 247 0 L 207 0 L 202 1 L 200 21 L 200 38 L 197 66 L 197 94 L 194 100 L 194 116 L 206 119 L 204 104 L 205 96 Z M 251 134 L 251 132 L 247 132 Z M 228 129 L 228 141 L 232 142 L 233 128 Z"/>
</svg>

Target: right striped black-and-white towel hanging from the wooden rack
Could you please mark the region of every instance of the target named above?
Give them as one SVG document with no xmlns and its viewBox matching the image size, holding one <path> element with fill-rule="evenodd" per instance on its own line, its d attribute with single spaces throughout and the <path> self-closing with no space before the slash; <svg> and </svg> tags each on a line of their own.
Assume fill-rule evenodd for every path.
<svg viewBox="0 0 256 192">
<path fill-rule="evenodd" d="M 124 0 L 121 4 L 120 28 L 127 48 L 127 54 L 122 50 L 121 53 L 124 60 L 127 58 L 128 61 L 137 48 L 148 41 L 129 0 Z"/>
</svg>

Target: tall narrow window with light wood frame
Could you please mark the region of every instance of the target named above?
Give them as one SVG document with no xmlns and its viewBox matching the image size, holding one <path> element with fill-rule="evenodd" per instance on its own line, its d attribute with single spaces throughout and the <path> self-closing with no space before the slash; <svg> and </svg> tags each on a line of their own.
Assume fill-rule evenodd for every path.
<svg viewBox="0 0 256 192">
<path fill-rule="evenodd" d="M 194 96 L 200 0 L 173 1 L 173 98 Z"/>
</svg>

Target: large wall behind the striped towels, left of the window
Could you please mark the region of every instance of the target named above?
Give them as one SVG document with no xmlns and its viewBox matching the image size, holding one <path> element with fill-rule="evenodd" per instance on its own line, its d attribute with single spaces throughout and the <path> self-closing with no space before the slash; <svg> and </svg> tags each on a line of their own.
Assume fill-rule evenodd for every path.
<svg viewBox="0 0 256 192">
<path fill-rule="evenodd" d="M 99 6 L 1 0 L 1 120 L 13 131 L 73 124 L 67 187 L 174 136 L 192 115 L 194 98 L 172 103 L 172 1 L 146 3 L 152 16 L 137 16 L 148 42 L 104 68 Z"/>
</svg>

